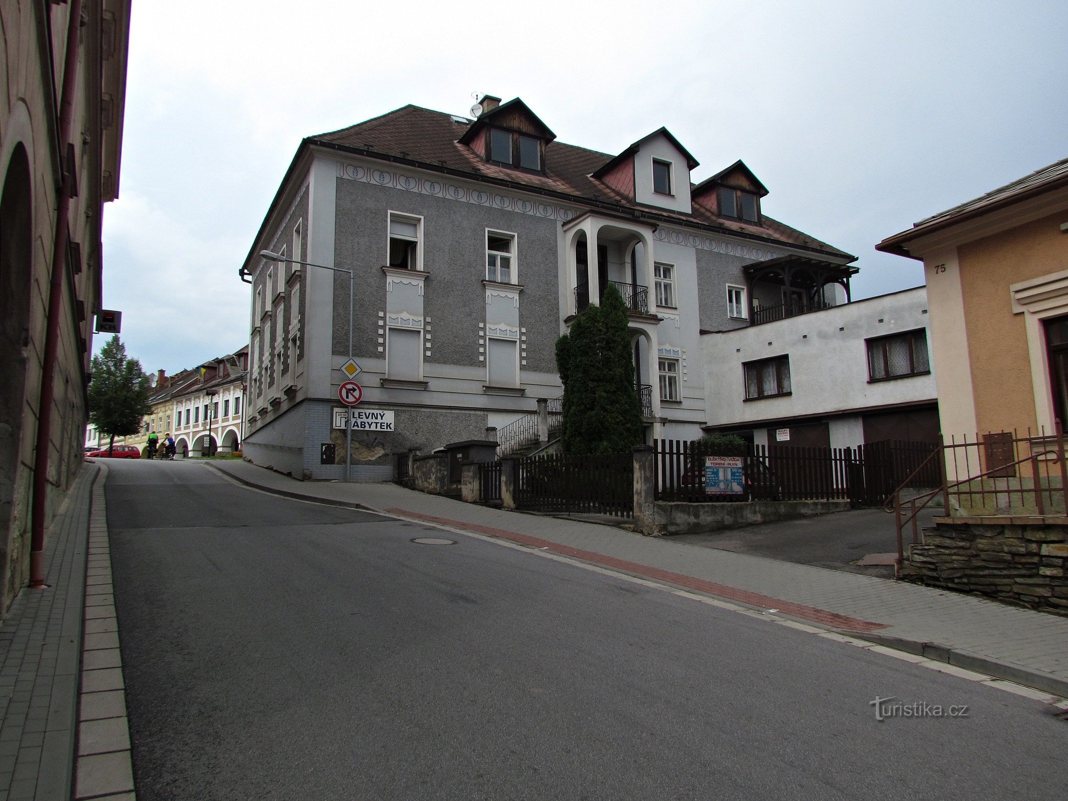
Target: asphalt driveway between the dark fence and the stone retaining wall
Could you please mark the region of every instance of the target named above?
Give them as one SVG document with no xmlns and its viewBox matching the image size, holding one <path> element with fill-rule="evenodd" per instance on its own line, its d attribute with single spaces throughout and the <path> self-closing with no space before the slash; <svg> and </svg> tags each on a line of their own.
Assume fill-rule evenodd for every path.
<svg viewBox="0 0 1068 801">
<path fill-rule="evenodd" d="M 932 525 L 936 514 L 941 511 L 921 512 L 917 528 Z M 906 529 L 905 537 L 906 543 L 911 541 L 911 528 Z M 853 563 L 869 553 L 897 553 L 894 516 L 881 508 L 836 512 L 708 534 L 680 534 L 672 540 L 885 579 L 894 578 L 892 565 Z"/>
</svg>

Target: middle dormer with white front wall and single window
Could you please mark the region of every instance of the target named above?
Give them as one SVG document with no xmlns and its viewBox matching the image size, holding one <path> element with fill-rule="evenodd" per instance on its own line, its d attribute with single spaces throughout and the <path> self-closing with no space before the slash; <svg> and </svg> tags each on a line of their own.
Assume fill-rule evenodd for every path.
<svg viewBox="0 0 1068 801">
<path fill-rule="evenodd" d="M 637 203 L 690 214 L 690 171 L 697 159 L 660 128 L 634 142 L 593 177 Z"/>
</svg>

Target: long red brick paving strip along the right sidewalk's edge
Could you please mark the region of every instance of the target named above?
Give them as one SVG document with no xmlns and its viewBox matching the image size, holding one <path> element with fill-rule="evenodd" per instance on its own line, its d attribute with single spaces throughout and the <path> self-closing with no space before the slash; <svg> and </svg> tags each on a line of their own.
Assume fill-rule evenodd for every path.
<svg viewBox="0 0 1068 801">
<path fill-rule="evenodd" d="M 410 512 L 408 509 L 390 508 L 386 511 L 392 512 L 395 515 L 414 517 L 420 520 L 441 523 L 442 525 L 449 525 L 454 529 L 464 529 L 466 531 L 486 534 L 500 539 L 507 539 L 508 541 L 518 543 L 519 545 L 546 549 L 564 556 L 574 556 L 575 559 L 593 562 L 594 564 L 603 565 L 604 567 L 625 570 L 626 572 L 644 576 L 649 579 L 666 581 L 690 590 L 696 590 L 701 593 L 714 595 L 720 598 L 729 598 L 731 600 L 741 601 L 742 603 L 749 603 L 754 607 L 763 607 L 764 609 L 776 609 L 783 614 L 790 615 L 791 617 L 800 617 L 805 621 L 821 623 L 824 626 L 832 626 L 837 629 L 848 629 L 850 631 L 878 631 L 879 629 L 888 627 L 888 624 L 861 621 L 857 617 L 841 615 L 837 612 L 828 612 L 826 609 L 816 609 L 815 607 L 806 607 L 803 603 L 780 600 L 779 598 L 772 598 L 768 595 L 751 593 L 748 590 L 738 590 L 733 586 L 727 586 L 726 584 L 717 584 L 713 581 L 695 579 L 692 576 L 684 576 L 682 574 L 672 572 L 671 570 L 661 570 L 659 567 L 649 567 L 648 565 L 641 565 L 637 562 L 627 562 L 626 560 L 615 559 L 614 556 L 606 556 L 603 553 L 595 553 L 594 551 L 584 551 L 580 548 L 571 548 L 567 545 L 560 545 L 559 543 L 553 543 L 549 539 L 539 539 L 537 537 L 532 537 L 528 534 L 520 534 L 515 531 L 493 529 L 489 525 L 478 525 L 477 523 L 469 523 L 461 520 L 450 520 L 449 518 L 423 515 L 419 512 Z"/>
</svg>

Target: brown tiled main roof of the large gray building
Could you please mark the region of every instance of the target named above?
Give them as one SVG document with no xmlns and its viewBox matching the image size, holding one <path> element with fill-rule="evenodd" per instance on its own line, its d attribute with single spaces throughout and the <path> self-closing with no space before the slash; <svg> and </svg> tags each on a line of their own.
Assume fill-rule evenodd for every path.
<svg viewBox="0 0 1068 801">
<path fill-rule="evenodd" d="M 631 198 L 591 177 L 599 168 L 612 160 L 613 156 L 607 153 L 552 141 L 546 145 L 544 175 L 498 167 L 484 161 L 471 148 L 456 141 L 472 122 L 453 114 L 409 105 L 341 130 L 310 137 L 308 141 L 359 150 L 371 157 L 400 157 L 430 167 L 467 173 L 475 179 L 507 180 L 513 185 L 528 186 L 534 191 L 570 195 L 578 203 L 586 200 L 614 204 L 625 209 L 640 208 L 645 214 L 669 218 L 682 225 L 700 223 L 714 226 L 727 234 L 755 236 L 784 245 L 814 249 L 834 257 L 853 258 L 845 251 L 784 225 L 766 215 L 761 215 L 761 225 L 752 225 L 717 217 L 697 204 L 693 205 L 693 214 L 686 215 L 635 203 Z"/>
</svg>

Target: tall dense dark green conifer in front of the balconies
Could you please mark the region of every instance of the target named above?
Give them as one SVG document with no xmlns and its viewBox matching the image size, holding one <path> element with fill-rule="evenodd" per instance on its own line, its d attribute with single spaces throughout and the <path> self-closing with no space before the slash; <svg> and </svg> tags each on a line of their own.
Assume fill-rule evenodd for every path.
<svg viewBox="0 0 1068 801">
<path fill-rule="evenodd" d="M 565 453 L 624 453 L 642 442 L 631 354 L 627 307 L 609 284 L 600 305 L 587 307 L 556 341 Z"/>
</svg>

